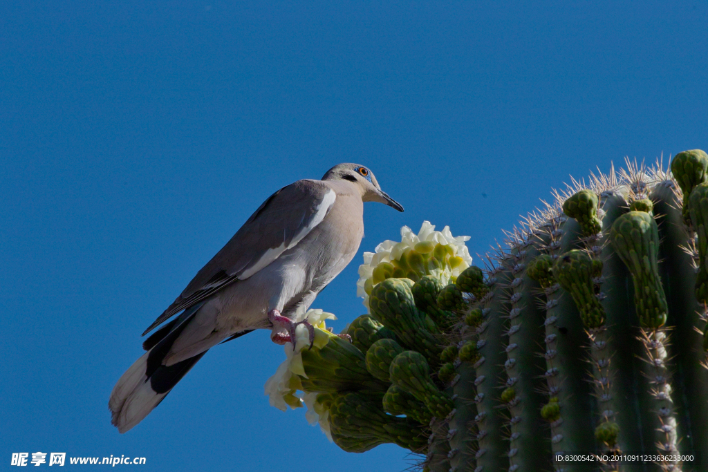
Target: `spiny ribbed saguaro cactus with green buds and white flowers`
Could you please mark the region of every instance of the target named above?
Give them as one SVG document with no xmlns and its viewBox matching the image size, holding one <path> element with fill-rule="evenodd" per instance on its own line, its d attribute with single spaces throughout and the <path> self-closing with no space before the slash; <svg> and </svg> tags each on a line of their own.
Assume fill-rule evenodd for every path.
<svg viewBox="0 0 708 472">
<path fill-rule="evenodd" d="M 333 335 L 309 312 L 271 402 L 430 472 L 708 471 L 708 156 L 628 166 L 556 192 L 484 267 L 427 221 L 366 253 L 370 313 Z"/>
</svg>

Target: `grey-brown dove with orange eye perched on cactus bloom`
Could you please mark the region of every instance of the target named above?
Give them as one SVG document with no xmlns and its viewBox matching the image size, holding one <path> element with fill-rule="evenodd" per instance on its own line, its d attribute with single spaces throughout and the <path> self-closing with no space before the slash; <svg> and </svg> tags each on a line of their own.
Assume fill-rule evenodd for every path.
<svg viewBox="0 0 708 472">
<path fill-rule="evenodd" d="M 110 393 L 118 432 L 141 422 L 219 343 L 270 329 L 271 340 L 282 345 L 295 340 L 295 328 L 304 323 L 312 347 L 314 328 L 296 323 L 296 311 L 307 310 L 354 258 L 364 236 L 364 202 L 404 211 L 369 168 L 355 163 L 270 195 L 142 333 L 160 326 Z"/>
</svg>

